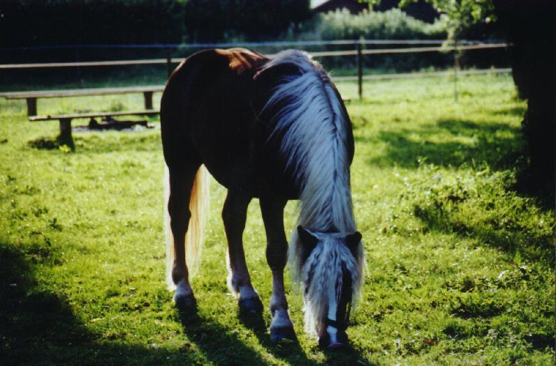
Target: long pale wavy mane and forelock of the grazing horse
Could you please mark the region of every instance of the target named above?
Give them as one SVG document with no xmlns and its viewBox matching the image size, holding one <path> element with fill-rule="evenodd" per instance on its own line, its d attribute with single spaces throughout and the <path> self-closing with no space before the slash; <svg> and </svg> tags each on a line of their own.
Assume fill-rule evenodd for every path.
<svg viewBox="0 0 556 366">
<path fill-rule="evenodd" d="M 298 225 L 314 233 L 354 233 L 356 223 L 351 206 L 350 157 L 347 146 L 350 122 L 342 100 L 323 68 L 305 52 L 280 52 L 263 66 L 261 72 L 282 65 L 293 66 L 298 72 L 282 77 L 265 105 L 265 110 L 276 108 L 272 110 L 274 115 L 271 120 L 271 138 L 281 137 L 281 156 L 286 159 L 286 166 L 293 172 L 300 187 Z M 322 245 L 339 244 L 335 240 L 324 240 Z M 363 249 L 360 247 L 356 263 L 351 263 L 356 268 L 349 268 L 353 270 L 353 295 L 356 297 L 363 282 L 361 271 L 364 260 Z M 328 252 L 328 249 L 315 251 Z M 337 256 L 346 256 L 348 253 L 339 249 L 332 251 Z M 301 244 L 297 230 L 293 231 L 288 256 L 294 281 L 298 284 L 307 281 L 308 274 L 302 273 Z M 315 261 L 315 257 L 311 256 L 307 261 Z M 335 270 L 330 265 L 328 268 L 330 271 Z M 326 277 L 332 275 L 335 276 L 328 273 Z M 315 291 L 314 295 L 318 292 Z M 320 296 L 325 298 L 328 295 L 325 292 L 321 291 Z M 313 300 L 315 305 L 319 304 L 318 298 Z M 307 322 L 305 325 L 308 325 Z"/>
</svg>

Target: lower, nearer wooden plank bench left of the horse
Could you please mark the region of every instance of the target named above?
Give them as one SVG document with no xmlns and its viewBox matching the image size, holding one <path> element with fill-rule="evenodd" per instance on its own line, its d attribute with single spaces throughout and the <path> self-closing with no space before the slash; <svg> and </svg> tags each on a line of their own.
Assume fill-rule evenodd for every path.
<svg viewBox="0 0 556 366">
<path fill-rule="evenodd" d="M 29 116 L 29 121 L 52 121 L 58 120 L 60 123 L 60 145 L 68 145 L 71 149 L 75 148 L 73 143 L 73 136 L 71 134 L 71 120 L 82 118 L 96 118 L 96 117 L 118 117 L 118 116 L 153 116 L 158 115 L 159 110 L 136 110 L 136 111 L 123 111 L 123 112 L 93 112 L 93 113 L 73 113 L 68 115 L 45 115 L 45 116 Z"/>
</svg>

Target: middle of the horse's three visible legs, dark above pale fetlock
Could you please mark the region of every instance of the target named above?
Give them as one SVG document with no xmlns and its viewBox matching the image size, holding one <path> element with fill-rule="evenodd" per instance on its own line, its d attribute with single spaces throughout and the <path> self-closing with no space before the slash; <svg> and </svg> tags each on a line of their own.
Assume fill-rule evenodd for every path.
<svg viewBox="0 0 556 366">
<path fill-rule="evenodd" d="M 243 251 L 242 235 L 247 220 L 249 202 L 251 202 L 251 196 L 230 190 L 222 210 L 222 220 L 228 239 L 228 264 L 231 271 L 228 275 L 228 286 L 233 293 L 239 294 L 241 311 L 260 312 L 263 304 L 251 285 L 251 276 L 247 270 Z"/>
</svg>

